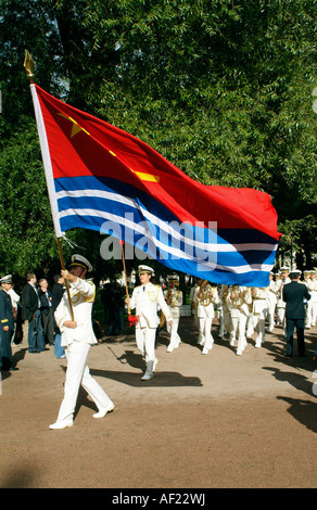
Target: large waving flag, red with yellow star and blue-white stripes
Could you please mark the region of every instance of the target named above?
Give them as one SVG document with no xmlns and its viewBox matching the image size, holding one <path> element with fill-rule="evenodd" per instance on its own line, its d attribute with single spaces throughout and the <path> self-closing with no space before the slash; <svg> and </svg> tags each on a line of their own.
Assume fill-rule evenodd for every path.
<svg viewBox="0 0 317 510">
<path fill-rule="evenodd" d="M 58 235 L 115 220 L 123 230 L 114 235 L 135 245 L 148 235 L 151 256 L 173 269 L 219 283 L 268 283 L 280 237 L 268 194 L 196 182 L 132 135 L 37 85 L 31 91 Z M 177 237 L 175 221 L 190 233 Z"/>
</svg>

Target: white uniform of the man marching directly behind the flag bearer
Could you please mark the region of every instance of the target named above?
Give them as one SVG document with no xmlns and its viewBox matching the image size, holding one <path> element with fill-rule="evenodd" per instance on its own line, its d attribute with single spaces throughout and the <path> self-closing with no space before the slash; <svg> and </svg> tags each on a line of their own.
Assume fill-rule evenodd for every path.
<svg viewBox="0 0 317 510">
<path fill-rule="evenodd" d="M 136 324 L 136 342 L 137 347 L 144 356 L 148 374 L 153 374 L 157 362 L 155 358 L 155 333 L 160 323 L 157 305 L 165 315 L 166 322 L 169 322 L 172 315 L 161 286 L 149 282 L 147 285 L 135 288 L 129 309 L 136 309 L 136 316 L 139 317 Z"/>
</svg>

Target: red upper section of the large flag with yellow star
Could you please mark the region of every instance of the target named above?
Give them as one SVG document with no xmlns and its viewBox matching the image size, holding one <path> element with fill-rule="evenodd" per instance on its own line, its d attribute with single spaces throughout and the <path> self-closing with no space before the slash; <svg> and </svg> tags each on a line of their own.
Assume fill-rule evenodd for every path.
<svg viewBox="0 0 317 510">
<path fill-rule="evenodd" d="M 255 229 L 275 240 L 277 214 L 267 193 L 194 181 L 141 140 L 74 109 L 36 86 L 53 177 L 107 177 L 144 191 L 180 221 Z"/>
</svg>

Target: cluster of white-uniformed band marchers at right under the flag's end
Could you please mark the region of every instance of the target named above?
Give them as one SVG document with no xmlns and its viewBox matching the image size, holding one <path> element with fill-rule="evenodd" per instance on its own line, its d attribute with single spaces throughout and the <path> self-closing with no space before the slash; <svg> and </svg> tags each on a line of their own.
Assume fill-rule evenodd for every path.
<svg viewBox="0 0 317 510">
<path fill-rule="evenodd" d="M 203 346 L 202 354 L 207 354 L 213 347 L 214 339 L 211 333 L 212 320 L 217 314 L 219 320 L 218 336 L 229 335 L 229 343 L 237 347 L 237 355 L 241 356 L 248 345 L 248 340 L 256 334 L 255 347 L 261 347 L 265 342 L 266 324 L 269 332 L 275 326 L 283 328 L 287 344 L 293 343 L 293 331 L 288 328 L 288 319 L 301 319 L 301 324 L 295 324 L 299 336 L 300 355 L 304 356 L 304 329 L 316 326 L 317 321 L 317 272 L 304 271 L 304 280 L 301 281 L 302 271 L 290 271 L 289 267 L 282 267 L 280 272 L 270 272 L 269 285 L 266 288 L 246 288 L 239 285 L 212 285 L 207 281 L 199 280 L 191 291 L 190 301 L 193 307 L 194 320 L 199 331 L 199 344 Z M 286 295 L 286 285 L 292 282 L 303 283 L 302 288 L 294 288 L 295 294 L 301 298 L 289 313 L 291 301 Z M 288 288 L 289 290 L 290 288 Z M 301 291 L 305 290 L 302 295 Z M 291 316 L 290 316 L 291 314 Z M 297 327 L 299 326 L 299 327 Z M 290 355 L 292 349 L 288 349 Z"/>
</svg>

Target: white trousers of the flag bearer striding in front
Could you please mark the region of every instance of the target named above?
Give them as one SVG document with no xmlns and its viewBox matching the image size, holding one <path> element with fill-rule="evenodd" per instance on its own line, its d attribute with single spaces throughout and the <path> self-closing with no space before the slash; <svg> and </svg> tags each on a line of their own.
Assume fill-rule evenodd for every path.
<svg viewBox="0 0 317 510">
<path fill-rule="evenodd" d="M 99 410 L 113 405 L 102 387 L 89 373 L 86 361 L 90 347 L 90 344 L 84 342 L 73 342 L 65 349 L 67 358 L 65 392 L 58 421 L 73 420 L 80 384 Z"/>
</svg>

